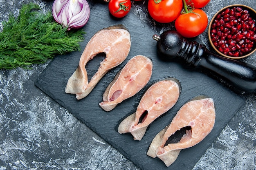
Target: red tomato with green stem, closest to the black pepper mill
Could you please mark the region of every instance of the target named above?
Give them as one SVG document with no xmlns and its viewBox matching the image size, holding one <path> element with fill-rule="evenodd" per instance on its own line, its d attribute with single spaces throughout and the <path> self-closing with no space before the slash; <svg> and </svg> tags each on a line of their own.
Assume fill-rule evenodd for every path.
<svg viewBox="0 0 256 170">
<path fill-rule="evenodd" d="M 175 20 L 175 28 L 183 37 L 192 38 L 204 32 L 208 24 L 206 13 L 202 9 L 194 9 L 193 13 L 181 14 Z"/>
</svg>

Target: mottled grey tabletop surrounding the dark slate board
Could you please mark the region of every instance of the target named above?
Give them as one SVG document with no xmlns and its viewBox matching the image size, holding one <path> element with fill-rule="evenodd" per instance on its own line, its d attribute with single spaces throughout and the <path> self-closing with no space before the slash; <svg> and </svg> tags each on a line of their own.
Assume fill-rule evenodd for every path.
<svg viewBox="0 0 256 170">
<path fill-rule="evenodd" d="M 39 4 L 43 12 L 51 10 L 53 3 L 0 0 L 0 31 L 1 22 L 8 20 L 9 13 L 18 15 L 21 5 L 27 2 Z M 156 33 L 173 29 L 172 23 L 157 24 L 151 20 L 144 4 L 144 0 L 132 2 L 131 11 Z M 245 4 L 256 9 L 255 0 L 211 0 L 203 8 L 209 22 L 218 10 L 229 4 Z M 107 5 L 102 10 L 108 10 Z M 206 31 L 196 40 L 209 47 Z M 242 61 L 256 66 L 256 53 Z M 0 70 L 0 170 L 139 170 L 34 86 L 49 62 L 35 64 L 29 70 Z M 193 170 L 256 169 L 256 97 L 254 93 L 239 95 L 245 104 Z"/>
</svg>

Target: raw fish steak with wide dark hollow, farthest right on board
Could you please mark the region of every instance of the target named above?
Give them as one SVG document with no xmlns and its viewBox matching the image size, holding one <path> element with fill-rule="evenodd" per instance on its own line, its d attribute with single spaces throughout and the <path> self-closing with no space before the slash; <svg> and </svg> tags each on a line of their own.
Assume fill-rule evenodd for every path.
<svg viewBox="0 0 256 170">
<path fill-rule="evenodd" d="M 215 123 L 215 108 L 212 98 L 198 96 L 184 104 L 171 124 L 160 131 L 153 139 L 147 155 L 159 157 L 166 166 L 170 166 L 178 157 L 180 150 L 195 146 L 213 129 Z M 177 130 L 190 127 L 186 134 L 176 144 L 168 144 Z"/>
</svg>

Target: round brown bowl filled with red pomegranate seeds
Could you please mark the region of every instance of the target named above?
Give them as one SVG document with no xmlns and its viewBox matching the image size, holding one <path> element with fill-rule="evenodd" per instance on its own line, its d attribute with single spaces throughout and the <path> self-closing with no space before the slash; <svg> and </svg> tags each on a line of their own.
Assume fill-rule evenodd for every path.
<svg viewBox="0 0 256 170">
<path fill-rule="evenodd" d="M 232 9 L 232 13 L 231 13 L 231 9 Z M 236 13 L 234 14 L 235 9 L 238 9 L 238 11 L 236 11 Z M 242 11 L 240 11 L 240 9 L 242 9 Z M 245 19 L 247 17 L 247 15 L 245 15 L 247 11 L 248 11 L 249 17 L 252 18 L 252 20 L 254 20 L 254 27 L 256 27 L 256 23 L 255 23 L 256 11 L 251 7 L 248 7 L 243 4 L 229 5 L 227 7 L 220 9 L 220 11 L 218 11 L 213 16 L 209 24 L 208 37 L 209 37 L 209 42 L 211 46 L 220 55 L 227 58 L 240 59 L 240 58 L 247 57 L 256 51 L 256 40 L 255 40 L 256 31 L 255 29 L 253 31 L 252 29 L 253 26 L 249 25 L 251 24 L 251 22 L 248 22 L 248 20 L 251 20 L 251 19 L 250 18 L 248 20 Z M 230 15 L 233 16 L 233 14 L 234 14 L 234 17 L 230 17 Z M 243 18 L 241 20 L 244 20 L 244 23 L 247 23 L 248 26 L 245 26 L 245 24 L 243 24 L 241 20 L 237 19 L 236 17 Z M 236 21 L 234 21 L 234 19 L 236 19 Z M 233 22 L 231 22 L 231 20 L 233 20 Z M 238 26 L 238 23 L 241 26 Z M 247 31 L 247 34 L 245 31 Z M 254 35 L 252 35 L 251 31 L 253 31 Z M 242 38 L 242 35 L 243 35 L 243 38 Z M 255 39 L 252 40 L 253 38 Z M 251 42 L 249 42 L 249 40 L 251 40 Z"/>
</svg>

